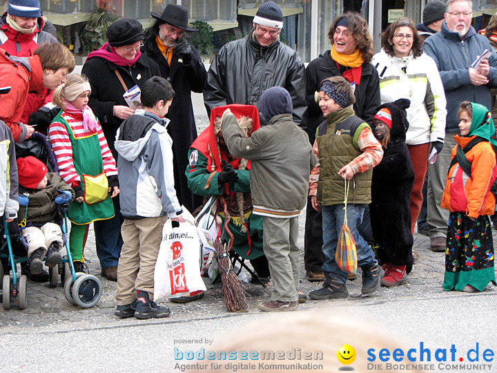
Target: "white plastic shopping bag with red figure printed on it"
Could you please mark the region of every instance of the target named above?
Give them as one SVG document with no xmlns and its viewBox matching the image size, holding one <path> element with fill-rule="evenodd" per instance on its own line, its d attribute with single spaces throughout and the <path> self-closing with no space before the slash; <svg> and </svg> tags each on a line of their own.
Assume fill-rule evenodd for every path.
<svg viewBox="0 0 497 373">
<path fill-rule="evenodd" d="M 199 236 L 193 216 L 183 207 L 186 222 L 173 228 L 167 220 L 162 229 L 154 274 L 154 301 L 186 296 L 192 291 L 206 290 L 199 270 Z"/>
</svg>

